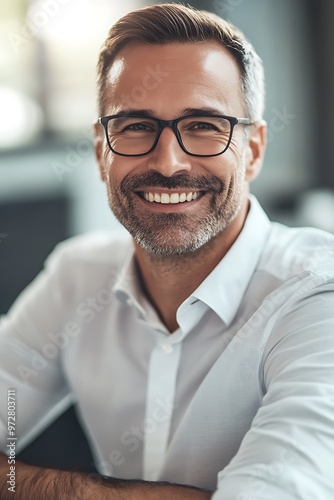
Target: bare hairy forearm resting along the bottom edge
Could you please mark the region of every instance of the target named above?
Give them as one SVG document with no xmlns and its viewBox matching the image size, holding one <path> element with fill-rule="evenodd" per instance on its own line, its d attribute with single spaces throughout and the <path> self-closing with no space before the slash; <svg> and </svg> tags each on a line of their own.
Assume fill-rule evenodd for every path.
<svg viewBox="0 0 334 500">
<path fill-rule="evenodd" d="M 34 467 L 16 462 L 15 493 L 8 490 L 7 457 L 0 455 L 0 498 L 12 500 L 206 500 L 212 493 L 168 483 L 125 481 L 98 474 L 85 474 Z"/>
</svg>

